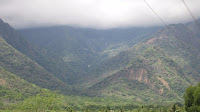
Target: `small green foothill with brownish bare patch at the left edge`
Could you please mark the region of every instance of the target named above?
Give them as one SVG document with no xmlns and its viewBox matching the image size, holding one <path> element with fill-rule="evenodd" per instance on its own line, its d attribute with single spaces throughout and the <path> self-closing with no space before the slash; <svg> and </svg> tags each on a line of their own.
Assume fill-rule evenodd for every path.
<svg viewBox="0 0 200 112">
<path fill-rule="evenodd" d="M 0 67 L 0 105 L 21 101 L 39 93 L 39 91 L 39 87 Z"/>
</svg>

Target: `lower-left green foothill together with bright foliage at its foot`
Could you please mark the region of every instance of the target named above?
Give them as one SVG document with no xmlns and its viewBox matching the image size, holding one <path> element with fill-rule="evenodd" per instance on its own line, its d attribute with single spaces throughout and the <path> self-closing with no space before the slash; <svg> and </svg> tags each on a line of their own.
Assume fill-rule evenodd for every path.
<svg viewBox="0 0 200 112">
<path fill-rule="evenodd" d="M 0 67 L 0 110 L 61 111 L 67 108 L 63 101 L 62 95 L 41 89 Z"/>
</svg>

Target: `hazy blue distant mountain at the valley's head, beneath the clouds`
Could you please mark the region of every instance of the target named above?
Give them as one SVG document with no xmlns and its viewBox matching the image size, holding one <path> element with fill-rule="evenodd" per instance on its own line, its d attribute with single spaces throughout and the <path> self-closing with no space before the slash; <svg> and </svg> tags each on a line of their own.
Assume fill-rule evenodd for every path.
<svg viewBox="0 0 200 112">
<path fill-rule="evenodd" d="M 62 57 L 76 73 L 69 76 L 73 83 L 80 83 L 96 74 L 100 63 L 140 42 L 158 28 L 124 28 L 95 30 L 68 26 L 23 29 L 25 39 Z M 58 66 L 59 67 L 59 66 Z M 75 82 L 73 82 L 75 81 Z"/>
</svg>

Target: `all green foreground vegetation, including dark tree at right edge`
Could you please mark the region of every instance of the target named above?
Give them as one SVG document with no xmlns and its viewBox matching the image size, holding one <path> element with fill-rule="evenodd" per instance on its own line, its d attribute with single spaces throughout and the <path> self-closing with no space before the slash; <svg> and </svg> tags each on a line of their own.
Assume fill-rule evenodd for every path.
<svg viewBox="0 0 200 112">
<path fill-rule="evenodd" d="M 2 75 L 6 74 L 6 75 Z M 13 82 L 9 82 L 1 87 L 8 87 L 9 93 L 14 92 L 13 97 L 11 94 L 5 93 L 5 89 L 1 89 L 0 93 L 0 110 L 2 112 L 199 112 L 199 89 L 200 86 L 189 87 L 184 95 L 185 106 L 180 103 L 175 104 L 136 104 L 135 101 L 126 101 L 117 98 L 91 98 L 91 97 L 80 97 L 80 96 L 65 96 L 52 92 L 50 90 L 41 89 L 34 85 L 19 79 L 14 74 L 6 72 L 1 68 L 1 79 L 7 79 L 5 77 L 13 77 L 7 79 Z M 16 88 L 9 88 L 9 84 L 15 84 L 16 81 L 20 80 Z M 2 81 L 1 81 L 2 82 Z M 21 86 L 23 84 L 23 86 Z M 29 86 L 29 88 L 27 88 Z M 19 87 L 27 88 L 29 91 L 20 92 L 28 95 L 23 97 L 17 97 L 20 95 L 17 90 Z M 25 90 L 27 90 L 25 89 Z M 12 91 L 12 92 L 11 92 Z M 36 92 L 37 91 L 37 92 Z M 29 94 L 31 92 L 36 92 Z M 7 100 L 6 100 L 7 99 Z M 10 99 L 10 100 L 8 100 Z M 8 102 L 9 101 L 9 102 Z M 186 109 L 186 111 L 185 111 Z"/>
</svg>

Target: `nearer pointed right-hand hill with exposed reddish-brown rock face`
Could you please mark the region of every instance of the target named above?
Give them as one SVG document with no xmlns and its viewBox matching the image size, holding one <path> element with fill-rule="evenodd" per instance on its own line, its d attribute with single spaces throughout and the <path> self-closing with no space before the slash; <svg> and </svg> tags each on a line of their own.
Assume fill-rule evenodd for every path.
<svg viewBox="0 0 200 112">
<path fill-rule="evenodd" d="M 189 84 L 182 79 L 182 71 L 176 72 L 174 68 L 179 66 L 166 57 L 162 50 L 148 46 L 125 69 L 91 87 L 90 94 L 95 91 L 100 96 L 114 95 L 143 103 L 182 102 L 181 96 Z M 179 84 L 182 87 L 178 87 Z"/>
</svg>

